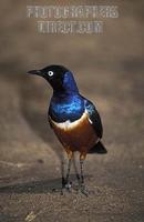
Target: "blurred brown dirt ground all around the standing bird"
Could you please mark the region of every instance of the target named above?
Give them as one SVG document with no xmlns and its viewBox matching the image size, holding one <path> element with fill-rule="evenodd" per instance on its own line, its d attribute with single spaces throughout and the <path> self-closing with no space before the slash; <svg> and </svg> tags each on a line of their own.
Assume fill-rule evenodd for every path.
<svg viewBox="0 0 144 222">
<path fill-rule="evenodd" d="M 144 221 L 144 2 L 97 2 L 119 6 L 120 18 L 95 36 L 40 34 L 25 18 L 31 1 L 1 2 L 0 222 Z M 107 154 L 88 155 L 89 198 L 53 192 L 63 151 L 47 122 L 52 91 L 27 75 L 51 63 L 74 72 L 103 120 Z"/>
</svg>

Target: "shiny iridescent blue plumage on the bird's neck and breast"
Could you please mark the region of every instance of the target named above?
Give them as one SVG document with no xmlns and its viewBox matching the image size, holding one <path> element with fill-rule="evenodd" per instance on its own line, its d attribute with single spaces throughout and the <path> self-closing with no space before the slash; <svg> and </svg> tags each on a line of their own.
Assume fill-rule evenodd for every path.
<svg viewBox="0 0 144 222">
<path fill-rule="evenodd" d="M 61 92 L 53 92 L 49 115 L 56 122 L 71 122 L 81 118 L 84 112 L 84 100 L 79 94 L 75 80 L 71 72 L 65 72 Z"/>
</svg>

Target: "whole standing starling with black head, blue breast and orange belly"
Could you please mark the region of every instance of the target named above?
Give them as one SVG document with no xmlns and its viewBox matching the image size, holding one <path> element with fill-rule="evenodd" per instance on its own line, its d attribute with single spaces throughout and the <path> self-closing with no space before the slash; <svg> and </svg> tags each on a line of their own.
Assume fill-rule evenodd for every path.
<svg viewBox="0 0 144 222">
<path fill-rule="evenodd" d="M 83 163 L 88 153 L 106 153 L 101 139 L 102 120 L 97 108 L 84 98 L 78 88 L 73 73 L 64 65 L 51 64 L 29 74 L 44 78 L 53 89 L 48 109 L 48 122 L 68 154 L 66 176 L 62 178 L 62 190 L 71 189 L 70 171 L 74 152 L 80 153 L 79 191 L 88 195 Z"/>
</svg>

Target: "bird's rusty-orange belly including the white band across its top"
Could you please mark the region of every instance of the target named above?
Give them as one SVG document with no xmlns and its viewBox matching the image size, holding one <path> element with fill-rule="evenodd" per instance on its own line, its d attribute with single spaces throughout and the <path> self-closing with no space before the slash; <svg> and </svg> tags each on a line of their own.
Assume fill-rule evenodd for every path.
<svg viewBox="0 0 144 222">
<path fill-rule="evenodd" d="M 88 113 L 84 113 L 80 120 L 71 123 L 56 123 L 52 120 L 52 128 L 65 149 L 72 152 L 88 153 L 89 150 L 97 142 L 99 138 L 89 122 Z"/>
</svg>

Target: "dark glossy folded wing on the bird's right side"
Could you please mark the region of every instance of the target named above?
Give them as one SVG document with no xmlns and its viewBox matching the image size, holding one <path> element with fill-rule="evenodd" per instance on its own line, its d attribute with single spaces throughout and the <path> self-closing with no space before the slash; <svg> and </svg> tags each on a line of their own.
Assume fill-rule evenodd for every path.
<svg viewBox="0 0 144 222">
<path fill-rule="evenodd" d="M 102 127 L 101 117 L 96 108 L 94 107 L 94 104 L 91 101 L 86 100 L 85 98 L 83 99 L 85 102 L 85 109 L 89 113 L 89 121 L 94 128 L 96 135 L 101 139 L 103 135 L 103 127 Z"/>
</svg>

